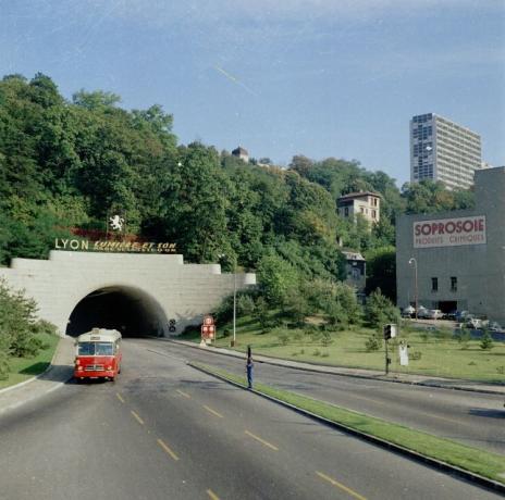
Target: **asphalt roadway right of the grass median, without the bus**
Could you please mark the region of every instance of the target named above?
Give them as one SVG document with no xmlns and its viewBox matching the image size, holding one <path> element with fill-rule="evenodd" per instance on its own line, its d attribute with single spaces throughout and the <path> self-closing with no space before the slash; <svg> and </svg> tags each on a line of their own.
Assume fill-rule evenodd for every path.
<svg viewBox="0 0 505 500">
<path fill-rule="evenodd" d="M 244 361 L 239 359 L 173 342 L 144 340 L 144 345 L 244 374 Z M 319 374 L 258 362 L 255 376 L 274 387 L 505 454 L 505 409 L 501 395 Z"/>
</svg>

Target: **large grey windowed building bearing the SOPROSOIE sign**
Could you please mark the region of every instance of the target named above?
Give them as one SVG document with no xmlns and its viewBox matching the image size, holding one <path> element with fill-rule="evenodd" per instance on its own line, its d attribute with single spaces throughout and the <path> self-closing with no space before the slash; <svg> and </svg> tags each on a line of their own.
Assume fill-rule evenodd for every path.
<svg viewBox="0 0 505 500">
<path fill-rule="evenodd" d="M 476 173 L 476 208 L 396 218 L 398 307 L 470 311 L 505 325 L 505 166 Z"/>
</svg>

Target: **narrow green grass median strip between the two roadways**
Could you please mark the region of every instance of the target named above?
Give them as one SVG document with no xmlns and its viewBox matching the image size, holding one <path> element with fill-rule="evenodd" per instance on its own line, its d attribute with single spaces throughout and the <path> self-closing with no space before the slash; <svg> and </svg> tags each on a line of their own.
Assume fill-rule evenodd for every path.
<svg viewBox="0 0 505 500">
<path fill-rule="evenodd" d="M 245 377 L 201 363 L 189 364 L 246 387 Z M 429 457 L 473 474 L 488 477 L 497 483 L 505 484 L 505 478 L 503 476 L 505 473 L 504 455 L 432 436 L 399 424 L 392 424 L 381 418 L 346 410 L 287 390 L 276 389 L 264 384 L 255 384 L 255 390 L 336 424 L 345 425 L 350 429 L 383 439 L 384 441 L 406 448 L 423 457 Z"/>
</svg>

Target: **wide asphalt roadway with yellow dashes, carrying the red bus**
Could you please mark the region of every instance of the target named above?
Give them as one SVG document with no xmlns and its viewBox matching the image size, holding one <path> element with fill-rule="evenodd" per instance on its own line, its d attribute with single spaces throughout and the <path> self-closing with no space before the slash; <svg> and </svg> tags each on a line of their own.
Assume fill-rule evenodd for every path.
<svg viewBox="0 0 505 500">
<path fill-rule="evenodd" d="M 0 498 L 494 499 L 124 341 L 115 383 L 69 383 L 0 417 Z"/>
</svg>

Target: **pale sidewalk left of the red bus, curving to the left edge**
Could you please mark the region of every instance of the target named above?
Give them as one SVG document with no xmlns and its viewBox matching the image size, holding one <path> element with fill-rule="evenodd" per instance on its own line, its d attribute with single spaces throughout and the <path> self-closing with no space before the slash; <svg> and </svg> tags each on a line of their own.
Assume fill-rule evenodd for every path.
<svg viewBox="0 0 505 500">
<path fill-rule="evenodd" d="M 41 375 L 0 390 L 0 414 L 47 395 L 69 380 L 74 371 L 74 339 L 62 338 L 51 366 Z"/>
</svg>

